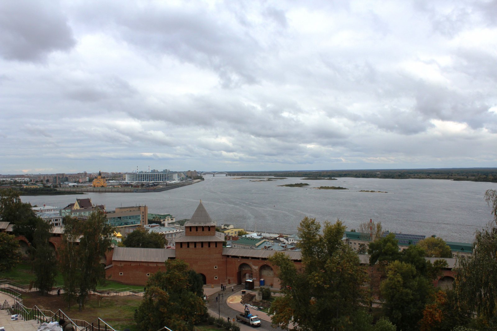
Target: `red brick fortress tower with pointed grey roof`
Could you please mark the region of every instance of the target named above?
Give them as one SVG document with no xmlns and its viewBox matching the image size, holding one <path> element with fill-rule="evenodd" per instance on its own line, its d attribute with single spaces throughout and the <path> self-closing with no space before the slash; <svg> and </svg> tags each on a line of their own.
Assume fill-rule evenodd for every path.
<svg viewBox="0 0 497 331">
<path fill-rule="evenodd" d="M 187 262 L 200 273 L 204 284 L 224 283 L 227 269 L 223 242 L 224 233 L 216 232 L 216 223 L 200 200 L 193 216 L 185 223 L 185 233 L 176 238 L 176 259 Z"/>
</svg>

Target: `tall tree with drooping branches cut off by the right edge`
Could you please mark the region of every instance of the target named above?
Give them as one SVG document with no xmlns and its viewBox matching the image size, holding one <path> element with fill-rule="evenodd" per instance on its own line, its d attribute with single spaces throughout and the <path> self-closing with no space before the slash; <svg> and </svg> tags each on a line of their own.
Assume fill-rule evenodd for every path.
<svg viewBox="0 0 497 331">
<path fill-rule="evenodd" d="M 459 258 L 455 291 L 459 300 L 476 310 L 484 326 L 497 326 L 497 191 L 485 199 L 492 207 L 495 224 L 476 232 L 473 255 Z"/>
</svg>

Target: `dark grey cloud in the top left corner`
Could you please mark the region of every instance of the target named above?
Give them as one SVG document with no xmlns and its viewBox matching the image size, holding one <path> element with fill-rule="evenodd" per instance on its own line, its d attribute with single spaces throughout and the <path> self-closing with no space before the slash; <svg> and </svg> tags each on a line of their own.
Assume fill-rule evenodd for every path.
<svg viewBox="0 0 497 331">
<path fill-rule="evenodd" d="M 76 45 L 57 1 L 0 1 L 0 54 L 8 60 L 43 60 Z"/>
</svg>

